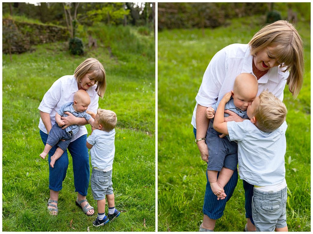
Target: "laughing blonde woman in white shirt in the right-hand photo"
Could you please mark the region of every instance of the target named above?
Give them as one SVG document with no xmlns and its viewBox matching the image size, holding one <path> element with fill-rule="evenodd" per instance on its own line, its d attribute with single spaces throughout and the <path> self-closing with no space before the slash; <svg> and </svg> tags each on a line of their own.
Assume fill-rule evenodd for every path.
<svg viewBox="0 0 313 234">
<path fill-rule="evenodd" d="M 202 160 L 208 162 L 208 146 L 205 137 L 209 127 L 206 117 L 207 107 L 219 102 L 224 94 L 233 89 L 234 79 L 240 73 L 254 74 L 259 83 L 259 92 L 269 89 L 283 100 L 284 88 L 288 84 L 294 97 L 300 92 L 303 83 L 303 43 L 295 29 L 288 21 L 279 20 L 266 25 L 257 32 L 248 44 L 231 44 L 216 53 L 210 61 L 202 84 L 196 96 L 192 125 L 196 143 Z M 225 121 L 242 121 L 237 114 L 230 114 Z M 210 123 L 210 127 L 212 123 Z M 226 199 L 217 200 L 208 182 L 204 196 L 203 223 L 199 231 L 213 231 L 215 221 L 222 217 L 226 202 L 231 198 L 237 185 L 238 172 L 234 171 L 230 181 L 224 186 Z M 255 231 L 252 219 L 251 201 L 253 186 L 243 181 L 245 190 L 245 209 L 247 224 L 245 231 Z M 286 231 L 287 227 L 276 231 Z"/>
</svg>

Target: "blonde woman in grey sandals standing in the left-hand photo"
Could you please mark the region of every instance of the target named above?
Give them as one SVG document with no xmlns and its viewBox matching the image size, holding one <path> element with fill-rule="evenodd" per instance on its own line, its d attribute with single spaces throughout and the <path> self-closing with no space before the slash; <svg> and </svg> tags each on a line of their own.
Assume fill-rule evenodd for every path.
<svg viewBox="0 0 313 234">
<path fill-rule="evenodd" d="M 87 58 L 75 70 L 74 75 L 65 75 L 52 84 L 51 88 L 44 94 L 38 107 L 40 110 L 39 132 L 44 145 L 47 142 L 49 131 L 55 123 L 55 114 L 65 103 L 72 102 L 74 94 L 78 90 L 85 90 L 90 96 L 88 110 L 96 112 L 98 109 L 99 96 L 105 93 L 106 80 L 105 70 L 102 64 L 95 58 Z M 75 117 L 69 112 L 67 117 L 62 117 L 65 125 L 62 129 L 71 125 L 79 125 L 79 131 L 75 134 L 68 146 L 73 160 L 74 186 L 77 193 L 76 204 L 80 206 L 86 215 L 93 215 L 95 210 L 86 200 L 90 178 L 89 155 L 86 147 L 88 124 L 85 118 Z M 49 151 L 49 189 L 50 198 L 48 210 L 51 215 L 58 214 L 59 191 L 66 176 L 69 164 L 67 151 L 55 162 L 54 168 L 50 166 L 50 157 L 54 155 L 57 148 L 55 145 Z"/>
</svg>

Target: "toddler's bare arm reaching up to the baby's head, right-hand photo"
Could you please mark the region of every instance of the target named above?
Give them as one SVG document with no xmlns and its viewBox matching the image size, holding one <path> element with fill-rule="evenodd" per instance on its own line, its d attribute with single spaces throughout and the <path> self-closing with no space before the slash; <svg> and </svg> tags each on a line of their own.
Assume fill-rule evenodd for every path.
<svg viewBox="0 0 313 234">
<path fill-rule="evenodd" d="M 223 99 L 218 104 L 218 108 L 215 112 L 213 128 L 223 134 L 228 135 L 227 122 L 224 122 L 224 110 L 225 104 L 230 100 L 232 91 L 224 95 Z"/>
</svg>

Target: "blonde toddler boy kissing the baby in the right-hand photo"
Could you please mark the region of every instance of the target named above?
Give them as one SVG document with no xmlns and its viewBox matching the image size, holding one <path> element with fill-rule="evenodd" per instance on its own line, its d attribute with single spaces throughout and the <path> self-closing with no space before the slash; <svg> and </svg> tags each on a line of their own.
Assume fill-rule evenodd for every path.
<svg viewBox="0 0 313 234">
<path fill-rule="evenodd" d="M 240 179 L 254 185 L 252 217 L 257 231 L 288 231 L 286 223 L 285 122 L 287 109 L 267 90 L 247 109 L 250 120 L 224 122 L 225 94 L 215 114 L 214 129 L 238 141 Z"/>
</svg>

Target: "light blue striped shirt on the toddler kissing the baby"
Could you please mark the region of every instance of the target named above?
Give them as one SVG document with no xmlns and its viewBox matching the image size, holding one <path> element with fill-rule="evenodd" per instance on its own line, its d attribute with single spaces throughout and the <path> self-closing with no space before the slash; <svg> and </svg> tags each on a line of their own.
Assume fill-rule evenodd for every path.
<svg viewBox="0 0 313 234">
<path fill-rule="evenodd" d="M 286 121 L 273 132 L 259 130 L 250 120 L 227 122 L 230 140 L 238 141 L 240 179 L 256 186 L 285 179 Z"/>
</svg>

